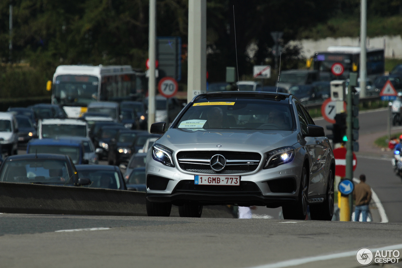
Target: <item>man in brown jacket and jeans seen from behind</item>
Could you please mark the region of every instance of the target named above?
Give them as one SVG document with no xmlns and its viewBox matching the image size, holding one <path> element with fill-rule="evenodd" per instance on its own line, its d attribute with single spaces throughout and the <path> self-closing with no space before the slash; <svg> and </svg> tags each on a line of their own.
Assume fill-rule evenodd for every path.
<svg viewBox="0 0 402 268">
<path fill-rule="evenodd" d="M 371 187 L 365 183 L 366 175 L 360 175 L 360 183 L 355 186 L 353 191 L 353 199 L 355 199 L 355 221 L 359 221 L 360 213 L 362 221 L 367 221 L 369 213 L 369 204 L 371 201 Z"/>
</svg>

